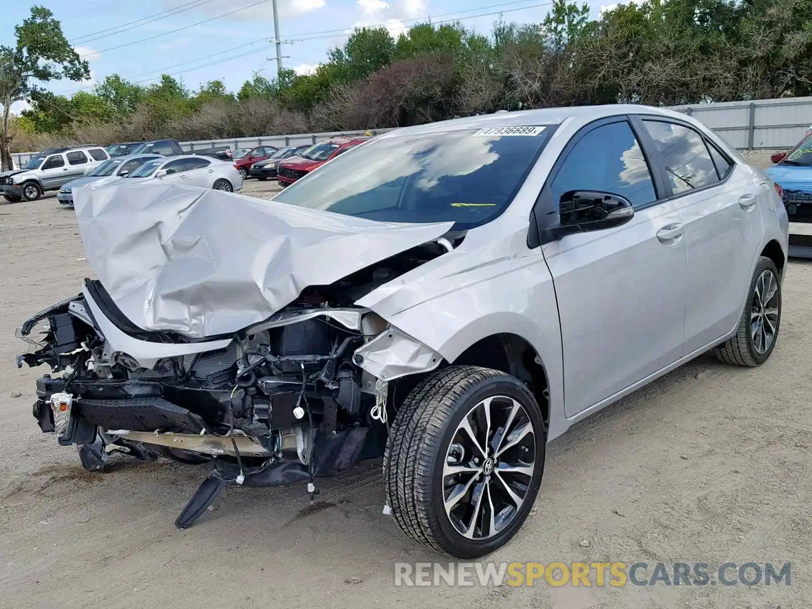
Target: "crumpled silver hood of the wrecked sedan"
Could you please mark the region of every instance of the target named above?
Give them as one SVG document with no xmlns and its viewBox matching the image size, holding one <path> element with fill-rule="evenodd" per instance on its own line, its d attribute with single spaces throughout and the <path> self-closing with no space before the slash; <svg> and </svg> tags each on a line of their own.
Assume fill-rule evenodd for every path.
<svg viewBox="0 0 812 609">
<path fill-rule="evenodd" d="M 93 271 L 131 322 L 230 334 L 327 285 L 434 240 L 452 222 L 352 218 L 176 184 L 89 184 L 73 193 Z"/>
</svg>

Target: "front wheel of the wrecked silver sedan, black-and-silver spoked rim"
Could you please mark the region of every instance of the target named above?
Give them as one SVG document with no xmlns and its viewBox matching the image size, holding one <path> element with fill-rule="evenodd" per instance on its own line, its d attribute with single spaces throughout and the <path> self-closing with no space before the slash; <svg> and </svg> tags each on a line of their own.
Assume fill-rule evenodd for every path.
<svg viewBox="0 0 812 609">
<path fill-rule="evenodd" d="M 409 538 L 458 559 L 520 529 L 542 481 L 546 429 L 533 395 L 498 370 L 449 366 L 425 378 L 387 440 L 387 505 Z"/>
</svg>

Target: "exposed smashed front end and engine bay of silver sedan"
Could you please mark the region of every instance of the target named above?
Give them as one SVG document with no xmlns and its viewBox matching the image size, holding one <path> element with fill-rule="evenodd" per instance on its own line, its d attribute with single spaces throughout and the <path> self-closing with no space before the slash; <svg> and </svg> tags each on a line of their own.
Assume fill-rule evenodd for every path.
<svg viewBox="0 0 812 609">
<path fill-rule="evenodd" d="M 397 386 L 441 365 L 430 348 L 353 303 L 462 238 L 448 235 L 306 287 L 265 321 L 205 339 L 142 330 L 102 283 L 85 279 L 81 294 L 18 330 L 36 347 L 18 365 L 52 369 L 37 380 L 34 417 L 60 444 L 76 444 L 89 471 L 102 471 L 114 451 L 210 462 L 209 477 L 176 521 L 181 528 L 231 482 L 307 481 L 313 499 L 315 478 L 382 456 L 396 393 L 408 393 Z M 388 374 L 369 372 L 387 358 L 396 364 Z"/>
</svg>

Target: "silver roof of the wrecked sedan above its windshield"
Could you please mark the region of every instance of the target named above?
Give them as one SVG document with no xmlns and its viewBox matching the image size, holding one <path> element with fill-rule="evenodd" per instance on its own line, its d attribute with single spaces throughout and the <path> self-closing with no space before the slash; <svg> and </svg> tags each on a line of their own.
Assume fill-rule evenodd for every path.
<svg viewBox="0 0 812 609">
<path fill-rule="evenodd" d="M 512 112 L 495 112 L 493 114 L 479 114 L 459 119 L 448 119 L 436 123 L 426 123 L 414 127 L 403 127 L 395 131 L 386 132 L 376 139 L 398 137 L 404 135 L 424 135 L 464 129 L 477 129 L 483 127 L 517 127 L 524 125 L 558 125 L 564 121 L 573 120 L 577 123 L 591 123 L 617 114 L 660 114 L 671 118 L 686 119 L 685 114 L 673 110 L 656 108 L 654 106 L 641 106 L 637 104 L 607 104 L 603 106 L 568 106 L 564 108 L 539 108 L 537 110 L 515 110 Z M 367 138 L 369 139 L 369 138 Z"/>
</svg>

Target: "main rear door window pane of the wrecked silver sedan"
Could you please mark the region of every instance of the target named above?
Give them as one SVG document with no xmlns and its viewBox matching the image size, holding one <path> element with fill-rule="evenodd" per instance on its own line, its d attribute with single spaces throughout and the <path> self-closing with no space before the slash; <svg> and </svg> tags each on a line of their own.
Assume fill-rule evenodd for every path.
<svg viewBox="0 0 812 609">
<path fill-rule="evenodd" d="M 719 181 L 705 140 L 693 129 L 660 120 L 644 120 L 675 195 Z"/>
</svg>

